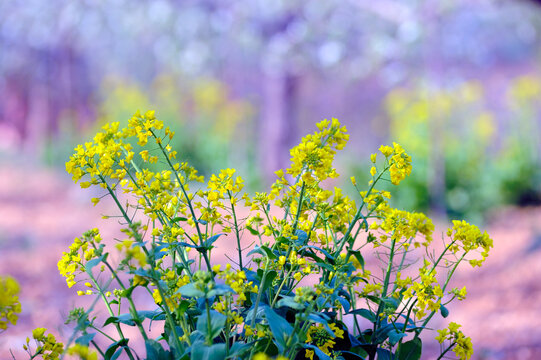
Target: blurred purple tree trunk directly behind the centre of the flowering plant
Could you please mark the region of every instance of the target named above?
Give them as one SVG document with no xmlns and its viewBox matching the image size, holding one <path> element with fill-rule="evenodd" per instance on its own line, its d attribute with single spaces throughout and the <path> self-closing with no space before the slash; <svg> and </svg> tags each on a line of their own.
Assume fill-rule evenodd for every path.
<svg viewBox="0 0 541 360">
<path fill-rule="evenodd" d="M 298 77 L 288 71 L 267 72 L 262 87 L 259 158 L 265 182 L 272 183 L 274 172 L 287 167 L 295 142 Z"/>
</svg>

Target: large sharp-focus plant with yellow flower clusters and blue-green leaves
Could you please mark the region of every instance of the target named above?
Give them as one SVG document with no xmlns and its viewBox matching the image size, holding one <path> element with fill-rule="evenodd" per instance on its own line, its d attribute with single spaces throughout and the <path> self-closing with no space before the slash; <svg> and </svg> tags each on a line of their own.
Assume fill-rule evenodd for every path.
<svg viewBox="0 0 541 360">
<path fill-rule="evenodd" d="M 376 189 L 411 172 L 396 143 L 371 155 L 366 190 L 351 179 L 357 200 L 325 189 L 349 136 L 336 119 L 317 126 L 291 150 L 291 166 L 276 172 L 270 192 L 253 197 L 242 194 L 233 169 L 191 191 L 203 178 L 175 161 L 174 134 L 152 111 L 136 113 L 125 128 L 105 125 L 78 146 L 67 171 L 113 199 L 127 239 L 111 248 L 93 229 L 59 261 L 68 286 L 84 283 L 79 294 L 100 299 L 108 312 L 99 319 L 93 307 L 72 311 L 75 344 L 67 351 L 96 358 L 91 347 L 104 359 L 135 359 L 132 344 L 144 342 L 147 359 L 420 359 L 430 320 L 466 296 L 465 288 L 449 288 L 453 273 L 465 261 L 480 266 L 492 240 L 454 221 L 435 255 L 430 219 L 391 208 L 390 193 Z M 135 153 L 131 139 L 145 150 Z M 156 163 L 165 170 L 146 168 Z M 242 208 L 250 214 L 241 217 Z M 224 239 L 238 251 L 225 266 L 212 256 Z M 111 253 L 120 253 L 118 263 Z M 382 260 L 382 277 L 366 266 L 367 254 Z M 414 257 L 422 257 L 417 270 Z M 147 325 L 161 335 L 150 338 Z M 127 326 L 140 337 L 126 337 Z M 461 359 L 473 352 L 457 324 L 437 340 L 440 358 L 451 349 Z"/>
</svg>

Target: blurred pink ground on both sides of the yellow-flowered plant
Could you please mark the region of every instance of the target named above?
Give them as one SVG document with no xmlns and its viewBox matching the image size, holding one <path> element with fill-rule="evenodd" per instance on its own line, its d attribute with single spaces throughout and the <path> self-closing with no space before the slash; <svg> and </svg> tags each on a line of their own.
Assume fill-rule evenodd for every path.
<svg viewBox="0 0 541 360">
<path fill-rule="evenodd" d="M 114 220 L 101 219 L 101 213 L 114 213 L 112 205 L 92 207 L 91 192 L 51 171 L 0 168 L 0 274 L 21 283 L 23 307 L 18 325 L 0 335 L 0 358 L 10 358 L 9 349 L 17 359 L 27 358 L 22 344 L 35 327 L 64 339 L 71 335 L 63 321 L 88 299 L 67 288 L 57 261 L 89 228 L 99 227 L 104 238 L 118 229 Z M 541 359 L 541 208 L 501 211 L 487 230 L 495 247 L 481 269 L 458 272 L 455 284 L 466 285 L 468 297 L 449 307 L 448 320 L 471 336 L 474 359 Z M 227 262 L 223 254 L 234 256 L 232 249 L 222 246 L 214 260 Z M 426 342 L 437 349 L 435 341 Z"/>
</svg>

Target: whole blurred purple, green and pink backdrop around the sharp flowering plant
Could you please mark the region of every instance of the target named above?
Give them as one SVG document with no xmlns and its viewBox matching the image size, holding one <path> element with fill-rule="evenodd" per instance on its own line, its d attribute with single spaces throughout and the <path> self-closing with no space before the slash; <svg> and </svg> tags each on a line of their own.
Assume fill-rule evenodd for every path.
<svg viewBox="0 0 541 360">
<path fill-rule="evenodd" d="M 62 333 L 75 298 L 56 262 L 106 226 L 64 174 L 73 147 L 155 109 L 181 158 L 234 167 L 251 192 L 324 118 L 351 134 L 345 188 L 400 143 L 414 170 L 394 205 L 495 239 L 451 309 L 475 358 L 541 358 L 540 100 L 537 1 L 0 1 L 0 273 L 24 310 L 0 348 Z"/>
</svg>

